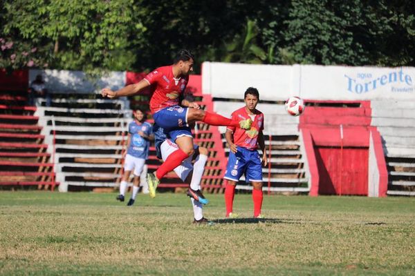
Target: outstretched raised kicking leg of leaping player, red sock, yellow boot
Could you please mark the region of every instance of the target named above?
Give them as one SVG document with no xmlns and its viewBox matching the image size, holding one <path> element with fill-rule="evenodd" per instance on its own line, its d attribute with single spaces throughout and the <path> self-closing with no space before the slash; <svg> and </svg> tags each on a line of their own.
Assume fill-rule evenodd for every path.
<svg viewBox="0 0 415 276">
<path fill-rule="evenodd" d="M 235 128 L 250 129 L 252 120 L 232 120 L 223 117 L 214 112 L 208 112 L 201 109 L 187 108 L 187 124 L 192 124 L 195 121 L 203 121 L 203 123 L 211 126 L 234 126 Z"/>
</svg>

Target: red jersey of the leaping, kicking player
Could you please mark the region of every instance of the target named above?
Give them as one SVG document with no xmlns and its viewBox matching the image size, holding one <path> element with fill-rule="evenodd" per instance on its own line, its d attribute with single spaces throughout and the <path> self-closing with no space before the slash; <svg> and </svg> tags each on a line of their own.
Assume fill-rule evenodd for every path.
<svg viewBox="0 0 415 276">
<path fill-rule="evenodd" d="M 177 106 L 178 97 L 183 94 L 189 82 L 189 76 L 174 79 L 173 66 L 159 67 L 145 76 L 145 79 L 153 92 L 150 99 L 152 114 L 168 106 Z"/>
</svg>

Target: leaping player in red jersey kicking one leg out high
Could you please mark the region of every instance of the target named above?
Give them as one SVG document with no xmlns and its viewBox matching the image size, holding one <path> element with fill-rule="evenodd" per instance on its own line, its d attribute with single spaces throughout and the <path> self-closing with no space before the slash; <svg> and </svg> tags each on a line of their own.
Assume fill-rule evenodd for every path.
<svg viewBox="0 0 415 276">
<path fill-rule="evenodd" d="M 171 66 L 163 66 L 150 72 L 138 83 L 125 86 L 118 91 L 104 88 L 103 97 L 115 98 L 134 95 L 144 88 L 151 86 L 153 95 L 150 100 L 150 110 L 156 125 L 164 128 L 169 138 L 179 147 L 154 173 L 147 174 L 150 197 L 156 196 L 156 188 L 160 179 L 167 172 L 174 170 L 181 162 L 193 154 L 193 137 L 189 124 L 203 121 L 212 126 L 232 126 L 234 128 L 250 129 L 252 121 L 248 119 L 229 119 L 216 113 L 200 109 L 197 103 L 181 101 L 189 73 L 193 71 L 194 57 L 189 50 L 180 50 Z M 185 106 L 184 108 L 182 106 Z"/>
</svg>

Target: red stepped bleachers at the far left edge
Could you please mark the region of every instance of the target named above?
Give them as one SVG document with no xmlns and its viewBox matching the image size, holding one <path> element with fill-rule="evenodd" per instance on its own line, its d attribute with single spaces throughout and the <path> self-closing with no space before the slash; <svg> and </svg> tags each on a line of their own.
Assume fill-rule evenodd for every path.
<svg viewBox="0 0 415 276">
<path fill-rule="evenodd" d="M 40 132 L 35 106 L 26 106 L 27 91 L 0 92 L 0 186 L 37 186 L 54 190 L 49 146 Z"/>
</svg>

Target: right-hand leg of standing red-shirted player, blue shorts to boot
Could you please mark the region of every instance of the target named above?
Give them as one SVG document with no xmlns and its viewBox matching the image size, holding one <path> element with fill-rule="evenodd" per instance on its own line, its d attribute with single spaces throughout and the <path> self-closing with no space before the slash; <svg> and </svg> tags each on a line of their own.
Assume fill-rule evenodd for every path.
<svg viewBox="0 0 415 276">
<path fill-rule="evenodd" d="M 254 217 L 261 218 L 262 201 L 262 165 L 257 150 L 250 152 L 250 159 L 246 168 L 246 181 L 252 184 L 252 201 L 254 203 Z"/>
</svg>

